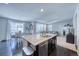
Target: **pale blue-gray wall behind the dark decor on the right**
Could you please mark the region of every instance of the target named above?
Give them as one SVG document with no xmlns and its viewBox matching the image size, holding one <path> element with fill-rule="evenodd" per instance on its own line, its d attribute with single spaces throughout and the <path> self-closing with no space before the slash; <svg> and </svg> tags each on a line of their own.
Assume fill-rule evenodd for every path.
<svg viewBox="0 0 79 59">
<path fill-rule="evenodd" d="M 72 20 L 65 20 L 65 21 L 60 21 L 57 23 L 53 23 L 53 31 L 58 31 L 60 35 L 63 35 L 63 29 L 64 29 L 64 25 L 66 24 L 72 24 Z"/>
</svg>

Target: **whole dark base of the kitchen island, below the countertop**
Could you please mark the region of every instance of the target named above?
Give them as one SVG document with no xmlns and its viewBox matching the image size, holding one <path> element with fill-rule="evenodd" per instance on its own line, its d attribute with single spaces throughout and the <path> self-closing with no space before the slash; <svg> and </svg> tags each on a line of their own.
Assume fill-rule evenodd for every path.
<svg viewBox="0 0 79 59">
<path fill-rule="evenodd" d="M 45 41 L 38 46 L 36 46 L 35 56 L 48 56 L 56 48 L 56 37 Z"/>
</svg>

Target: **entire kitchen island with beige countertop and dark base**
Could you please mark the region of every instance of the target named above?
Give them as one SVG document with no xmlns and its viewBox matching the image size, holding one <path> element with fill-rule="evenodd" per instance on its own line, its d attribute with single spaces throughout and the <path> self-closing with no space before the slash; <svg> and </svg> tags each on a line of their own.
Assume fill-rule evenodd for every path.
<svg viewBox="0 0 79 59">
<path fill-rule="evenodd" d="M 57 34 L 49 34 L 46 35 L 26 35 L 24 36 L 24 40 L 31 44 L 33 49 L 35 50 L 35 56 L 48 56 L 52 49 L 56 46 L 56 37 Z"/>
</svg>

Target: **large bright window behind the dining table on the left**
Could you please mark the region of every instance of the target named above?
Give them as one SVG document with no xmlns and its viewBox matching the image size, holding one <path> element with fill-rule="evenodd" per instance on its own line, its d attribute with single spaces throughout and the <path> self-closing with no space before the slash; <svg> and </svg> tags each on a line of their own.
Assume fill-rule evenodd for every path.
<svg viewBox="0 0 79 59">
<path fill-rule="evenodd" d="M 21 31 L 24 32 L 24 23 L 12 22 L 10 21 L 10 33 L 15 33 Z"/>
</svg>

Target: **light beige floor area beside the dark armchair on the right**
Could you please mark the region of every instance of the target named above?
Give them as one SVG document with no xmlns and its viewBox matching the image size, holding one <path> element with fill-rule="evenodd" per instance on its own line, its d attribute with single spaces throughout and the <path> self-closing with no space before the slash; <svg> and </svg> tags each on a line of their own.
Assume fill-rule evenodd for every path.
<svg viewBox="0 0 79 59">
<path fill-rule="evenodd" d="M 57 37 L 57 45 L 75 52 L 77 51 L 75 44 L 67 43 L 66 37 L 63 37 L 63 36 Z"/>
</svg>

